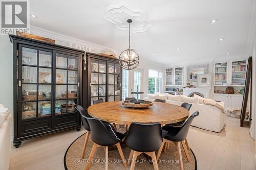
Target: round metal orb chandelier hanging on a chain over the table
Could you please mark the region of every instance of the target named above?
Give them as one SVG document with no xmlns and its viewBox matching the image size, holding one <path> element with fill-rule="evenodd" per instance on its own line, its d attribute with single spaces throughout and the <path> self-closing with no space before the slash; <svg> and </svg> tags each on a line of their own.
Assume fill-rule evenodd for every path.
<svg viewBox="0 0 256 170">
<path fill-rule="evenodd" d="M 140 61 L 139 54 L 131 49 L 131 23 L 132 19 L 127 19 L 129 23 L 129 48 L 124 50 L 119 56 L 119 63 L 123 69 L 131 70 L 137 67 Z"/>
</svg>

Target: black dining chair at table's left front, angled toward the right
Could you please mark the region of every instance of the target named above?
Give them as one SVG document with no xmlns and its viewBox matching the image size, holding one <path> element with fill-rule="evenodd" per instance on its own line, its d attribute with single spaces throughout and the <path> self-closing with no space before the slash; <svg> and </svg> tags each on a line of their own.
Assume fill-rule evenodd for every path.
<svg viewBox="0 0 256 170">
<path fill-rule="evenodd" d="M 91 139 L 94 143 L 92 151 L 88 158 L 88 163 L 86 164 L 86 167 L 84 169 L 89 169 L 97 147 L 105 148 L 105 169 L 108 169 L 108 147 L 112 145 L 117 146 L 123 165 L 124 167 L 127 167 L 120 145 L 120 141 L 125 137 L 125 135 L 116 132 L 115 128 L 110 123 L 101 122 L 101 120 L 94 117 L 86 117 L 86 119 L 89 123 L 91 129 Z"/>
</svg>

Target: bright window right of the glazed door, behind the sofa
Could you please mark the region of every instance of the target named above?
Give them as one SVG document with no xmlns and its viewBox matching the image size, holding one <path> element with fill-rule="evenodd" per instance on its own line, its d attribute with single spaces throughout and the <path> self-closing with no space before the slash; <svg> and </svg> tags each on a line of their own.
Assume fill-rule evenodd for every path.
<svg viewBox="0 0 256 170">
<path fill-rule="evenodd" d="M 163 83 L 163 73 L 154 70 L 148 69 L 148 93 L 155 94 L 157 92 L 162 92 L 162 83 Z"/>
</svg>

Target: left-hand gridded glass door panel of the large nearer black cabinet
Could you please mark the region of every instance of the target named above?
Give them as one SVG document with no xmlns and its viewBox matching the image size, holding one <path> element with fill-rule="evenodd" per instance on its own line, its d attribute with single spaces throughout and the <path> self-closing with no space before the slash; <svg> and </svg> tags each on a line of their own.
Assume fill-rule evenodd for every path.
<svg viewBox="0 0 256 170">
<path fill-rule="evenodd" d="M 52 115 L 52 52 L 22 47 L 22 120 Z"/>
</svg>

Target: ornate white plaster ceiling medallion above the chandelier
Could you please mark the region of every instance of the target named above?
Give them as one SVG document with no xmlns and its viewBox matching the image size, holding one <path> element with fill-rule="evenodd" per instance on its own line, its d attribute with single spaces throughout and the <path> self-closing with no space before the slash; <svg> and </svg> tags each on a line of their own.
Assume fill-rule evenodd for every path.
<svg viewBox="0 0 256 170">
<path fill-rule="evenodd" d="M 126 19 L 131 18 L 133 20 L 132 33 L 145 32 L 152 26 L 143 10 L 134 9 L 124 2 L 106 8 L 103 18 L 114 23 L 119 30 L 129 30 L 129 24 L 127 24 Z"/>
</svg>

